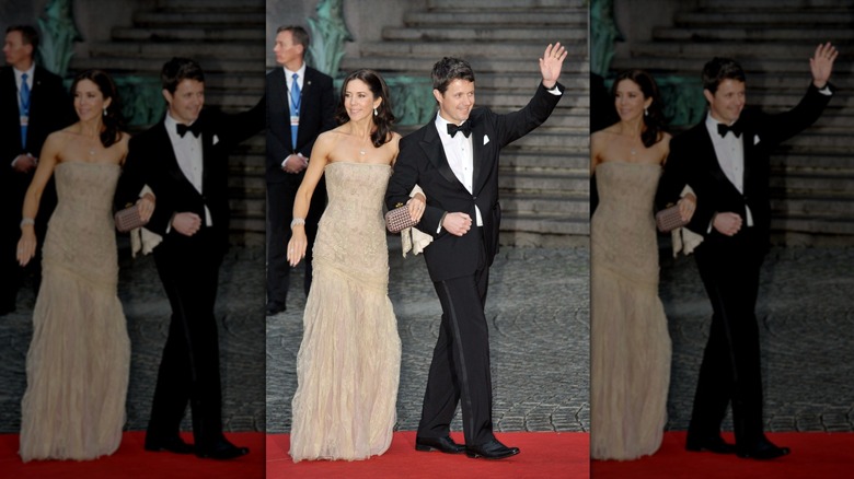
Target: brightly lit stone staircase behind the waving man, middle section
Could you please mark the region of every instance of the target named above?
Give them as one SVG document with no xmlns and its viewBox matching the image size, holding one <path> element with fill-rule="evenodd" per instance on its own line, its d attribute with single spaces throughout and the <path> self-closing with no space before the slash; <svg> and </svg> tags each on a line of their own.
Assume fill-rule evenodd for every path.
<svg viewBox="0 0 854 479">
<path fill-rule="evenodd" d="M 567 87 L 540 128 L 504 149 L 499 176 L 501 243 L 567 246 L 589 234 L 589 61 L 585 0 L 427 0 L 405 12 L 404 25 L 362 43 L 341 69 L 372 68 L 384 75 L 430 75 L 445 56 L 469 61 L 476 105 L 498 113 L 524 106 L 539 84 L 538 58 L 561 42 L 569 56 Z M 403 135 L 415 127 L 402 128 Z"/>
</svg>

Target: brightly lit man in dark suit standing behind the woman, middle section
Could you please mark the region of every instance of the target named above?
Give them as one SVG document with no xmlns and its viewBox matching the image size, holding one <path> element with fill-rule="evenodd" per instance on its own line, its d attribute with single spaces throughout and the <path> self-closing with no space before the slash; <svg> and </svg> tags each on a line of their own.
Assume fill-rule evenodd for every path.
<svg viewBox="0 0 854 479">
<path fill-rule="evenodd" d="M 301 26 L 281 26 L 276 33 L 276 68 L 267 73 L 267 315 L 285 311 L 290 265 L 287 246 L 293 199 L 311 159 L 314 140 L 335 127 L 332 78 L 304 61 L 309 34 Z M 311 246 L 326 207 L 321 178 L 305 219 L 304 291 L 311 287 Z"/>
</svg>

